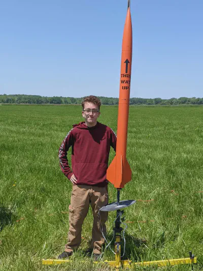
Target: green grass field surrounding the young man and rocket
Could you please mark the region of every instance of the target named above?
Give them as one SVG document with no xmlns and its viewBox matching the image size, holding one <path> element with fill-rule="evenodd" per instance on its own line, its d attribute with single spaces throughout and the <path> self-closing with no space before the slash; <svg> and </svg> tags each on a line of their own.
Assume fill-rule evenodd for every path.
<svg viewBox="0 0 203 271">
<path fill-rule="evenodd" d="M 194 270 L 203 269 L 202 116 L 203 107 L 130 107 L 127 159 L 133 175 L 121 200 L 138 201 L 125 209 L 126 258 L 185 258 L 192 250 L 198 257 Z M 67 266 L 41 261 L 56 258 L 66 243 L 72 185 L 60 171 L 58 148 L 80 121 L 80 106 L 0 106 L 0 270 L 110 269 L 93 265 L 86 255 L 91 208 L 75 261 Z M 102 106 L 99 121 L 116 131 L 117 107 Z M 109 195 L 110 202 L 116 200 L 111 184 Z M 109 239 L 115 216 L 109 213 Z M 113 253 L 105 251 L 104 259 L 113 260 Z"/>
</svg>

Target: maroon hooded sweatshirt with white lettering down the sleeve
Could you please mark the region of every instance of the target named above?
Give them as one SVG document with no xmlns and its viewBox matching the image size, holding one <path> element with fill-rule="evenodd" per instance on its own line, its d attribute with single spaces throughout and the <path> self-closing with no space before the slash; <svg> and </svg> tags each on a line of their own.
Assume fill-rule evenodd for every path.
<svg viewBox="0 0 203 271">
<path fill-rule="evenodd" d="M 67 160 L 71 146 L 73 171 Z M 94 127 L 87 127 L 85 122 L 73 125 L 59 148 L 63 174 L 69 179 L 74 174 L 77 185 L 106 186 L 110 146 L 116 151 L 116 134 L 108 126 L 98 122 Z"/>
</svg>

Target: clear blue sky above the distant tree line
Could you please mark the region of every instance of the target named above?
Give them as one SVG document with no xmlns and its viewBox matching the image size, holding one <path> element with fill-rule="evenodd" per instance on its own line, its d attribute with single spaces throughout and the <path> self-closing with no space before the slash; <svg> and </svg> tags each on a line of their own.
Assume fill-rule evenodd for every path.
<svg viewBox="0 0 203 271">
<path fill-rule="evenodd" d="M 0 94 L 118 97 L 127 0 L 1 2 Z M 203 97 L 203 0 L 131 0 L 130 97 Z"/>
</svg>

